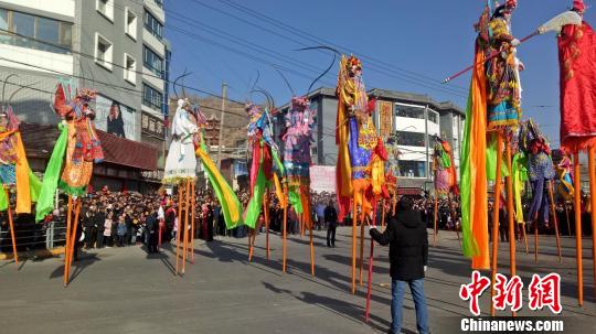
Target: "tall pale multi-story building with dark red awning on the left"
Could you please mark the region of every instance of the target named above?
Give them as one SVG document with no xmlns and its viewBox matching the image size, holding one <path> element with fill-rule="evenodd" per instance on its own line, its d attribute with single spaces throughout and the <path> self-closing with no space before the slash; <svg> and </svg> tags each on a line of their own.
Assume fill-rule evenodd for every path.
<svg viewBox="0 0 596 334">
<path fill-rule="evenodd" d="M 92 108 L 106 161 L 93 184 L 140 190 L 148 176 L 159 179 L 147 171 L 163 155 L 170 57 L 163 24 L 160 0 L 0 0 L 0 80 L 17 75 L 8 96 L 22 88 L 12 106 L 34 170 L 43 171 L 57 138 L 52 93 L 60 79 L 73 79 L 97 91 Z"/>
</svg>

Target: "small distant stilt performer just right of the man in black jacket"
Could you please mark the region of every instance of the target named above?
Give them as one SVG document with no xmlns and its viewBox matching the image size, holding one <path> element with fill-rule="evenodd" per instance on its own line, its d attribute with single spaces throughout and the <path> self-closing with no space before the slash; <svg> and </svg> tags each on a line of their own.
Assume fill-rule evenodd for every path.
<svg viewBox="0 0 596 334">
<path fill-rule="evenodd" d="M 446 140 L 435 136 L 435 151 L 433 153 L 433 170 L 435 173 L 435 225 L 433 235 L 433 246 L 437 246 L 437 203 L 439 198 L 447 198 L 449 202 L 449 214 L 454 218 L 454 208 L 451 205 L 450 194 L 459 195 L 457 187 L 457 175 L 454 163 L 454 152 L 451 146 Z M 457 226 L 456 226 L 457 231 Z M 459 231 L 457 231 L 459 239 Z"/>
</svg>

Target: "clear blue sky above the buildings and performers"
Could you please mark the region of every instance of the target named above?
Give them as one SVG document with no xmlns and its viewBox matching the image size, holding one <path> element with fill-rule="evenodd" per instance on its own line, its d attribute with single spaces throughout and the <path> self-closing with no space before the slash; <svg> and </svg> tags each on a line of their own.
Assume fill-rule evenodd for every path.
<svg viewBox="0 0 596 334">
<path fill-rule="evenodd" d="M 287 24 L 287 30 L 251 15 L 246 9 L 234 8 L 230 1 L 278 20 Z M 585 2 L 596 6 L 596 0 Z M 166 35 L 173 49 L 172 76 L 188 68 L 193 74 L 185 85 L 216 94 L 225 80 L 231 98 L 246 100 L 248 83 L 258 71 L 257 86 L 272 91 L 276 104 L 283 105 L 291 94 L 267 63 L 285 67 L 283 72 L 296 93 L 306 93 L 332 58 L 329 53 L 295 51 L 322 44 L 313 41 L 315 36 L 373 58 L 363 60 L 368 88 L 427 94 L 465 107 L 469 75 L 450 85 L 438 83 L 471 64 L 476 37 L 472 24 L 483 3 L 485 0 L 166 0 Z M 513 34 L 519 39 L 530 34 L 571 3 L 572 0 L 520 0 L 512 19 Z M 596 24 L 596 8 L 588 10 L 584 19 Z M 523 116 L 534 118 L 557 147 L 555 34 L 530 40 L 519 47 L 519 57 L 526 67 L 522 73 Z M 316 87 L 334 86 L 337 67 L 336 64 Z"/>
</svg>

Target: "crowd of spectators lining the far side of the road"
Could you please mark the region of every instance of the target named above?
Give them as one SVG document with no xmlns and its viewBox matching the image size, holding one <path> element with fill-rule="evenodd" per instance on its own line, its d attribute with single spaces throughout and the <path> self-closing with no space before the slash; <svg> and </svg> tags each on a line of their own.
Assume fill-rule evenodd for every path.
<svg viewBox="0 0 596 334">
<path fill-rule="evenodd" d="M 240 192 L 238 198 L 243 207 L 246 207 L 249 193 Z M 414 211 L 419 212 L 423 222 L 426 222 L 428 228 L 433 228 L 435 220 L 435 201 L 423 196 L 415 196 Z M 179 214 L 178 197 L 168 195 L 166 192 L 155 192 L 151 194 L 139 194 L 136 192 L 110 192 L 107 188 L 88 194 L 83 200 L 79 214 L 79 228 L 84 236 L 82 237 L 82 247 L 103 248 L 103 247 L 127 247 L 136 244 L 151 245 L 153 239 L 157 244 L 169 243 L 178 229 L 177 217 Z M 64 226 L 66 216 L 67 198 L 58 198 L 57 208 L 49 215 L 44 224 L 35 225 L 22 224 L 23 220 L 31 222 L 32 216 L 19 215 L 15 217 L 17 237 L 20 249 L 34 248 L 28 245 L 44 245 L 46 248 L 54 246 L 54 241 L 60 243 L 60 233 L 54 230 L 54 224 Z M 584 198 L 584 203 L 589 203 Z M 284 209 L 279 205 L 274 192 L 269 192 L 269 230 L 273 233 L 283 231 Z M 312 193 L 311 194 L 311 219 L 313 228 L 321 230 L 327 228 L 329 222 L 326 222 L 324 212 L 328 205 L 336 206 L 336 194 L 332 193 Z M 437 228 L 438 230 L 460 230 L 461 211 L 457 200 L 439 200 L 437 202 Z M 392 203 L 386 202 L 385 211 L 391 212 Z M 524 205 L 528 208 L 528 205 Z M 382 207 L 377 207 L 377 225 L 381 225 Z M 489 203 L 489 212 L 492 213 L 492 203 Z M 191 213 L 189 212 L 189 217 Z M 489 231 L 492 230 L 492 214 L 489 214 Z M 589 206 L 582 207 L 584 234 L 589 234 Z M 571 203 L 557 203 L 556 217 L 558 229 L 562 235 L 572 235 L 575 233 L 573 223 L 574 207 Z M 190 218 L 189 218 L 190 219 Z M 0 213 L 0 251 L 7 251 L 10 245 L 10 235 L 8 231 L 8 222 L 6 213 Z M 266 226 L 262 216 L 259 219 L 260 230 Z M 552 215 L 551 215 L 551 220 Z M 571 220 L 571 223 L 568 223 Z M 502 241 L 509 237 L 507 233 L 508 216 L 504 208 L 501 209 L 499 218 L 499 235 Z M 21 223 L 21 224 L 19 224 Z M 192 223 L 192 222 L 191 222 Z M 347 216 L 343 222 L 337 222 L 334 226 L 351 225 L 351 217 Z M 20 226 L 29 226 L 23 229 Z M 19 230 L 21 228 L 21 230 Z M 287 233 L 289 235 L 299 234 L 304 226 L 300 226 L 298 215 L 290 207 L 287 212 Z M 521 227 L 520 227 L 521 228 Z M 525 224 L 528 231 L 533 231 L 533 225 Z M 64 229 L 64 228 L 63 228 Z M 28 233 L 29 231 L 29 233 Z M 216 197 L 210 190 L 198 190 L 194 202 L 194 238 L 202 238 L 207 241 L 217 237 L 242 238 L 248 234 L 245 226 L 226 229 L 225 220 Z M 521 231 L 515 230 L 517 233 Z M 539 233 L 554 234 L 553 222 L 540 222 Z M 62 233 L 62 235 L 64 231 Z M 151 239 L 155 235 L 156 238 Z M 49 239 L 52 239 L 51 241 Z M 63 239 L 62 239 L 63 240 Z M 28 247 L 25 247 L 28 246 Z M 148 247 L 149 248 L 149 247 Z"/>
</svg>

